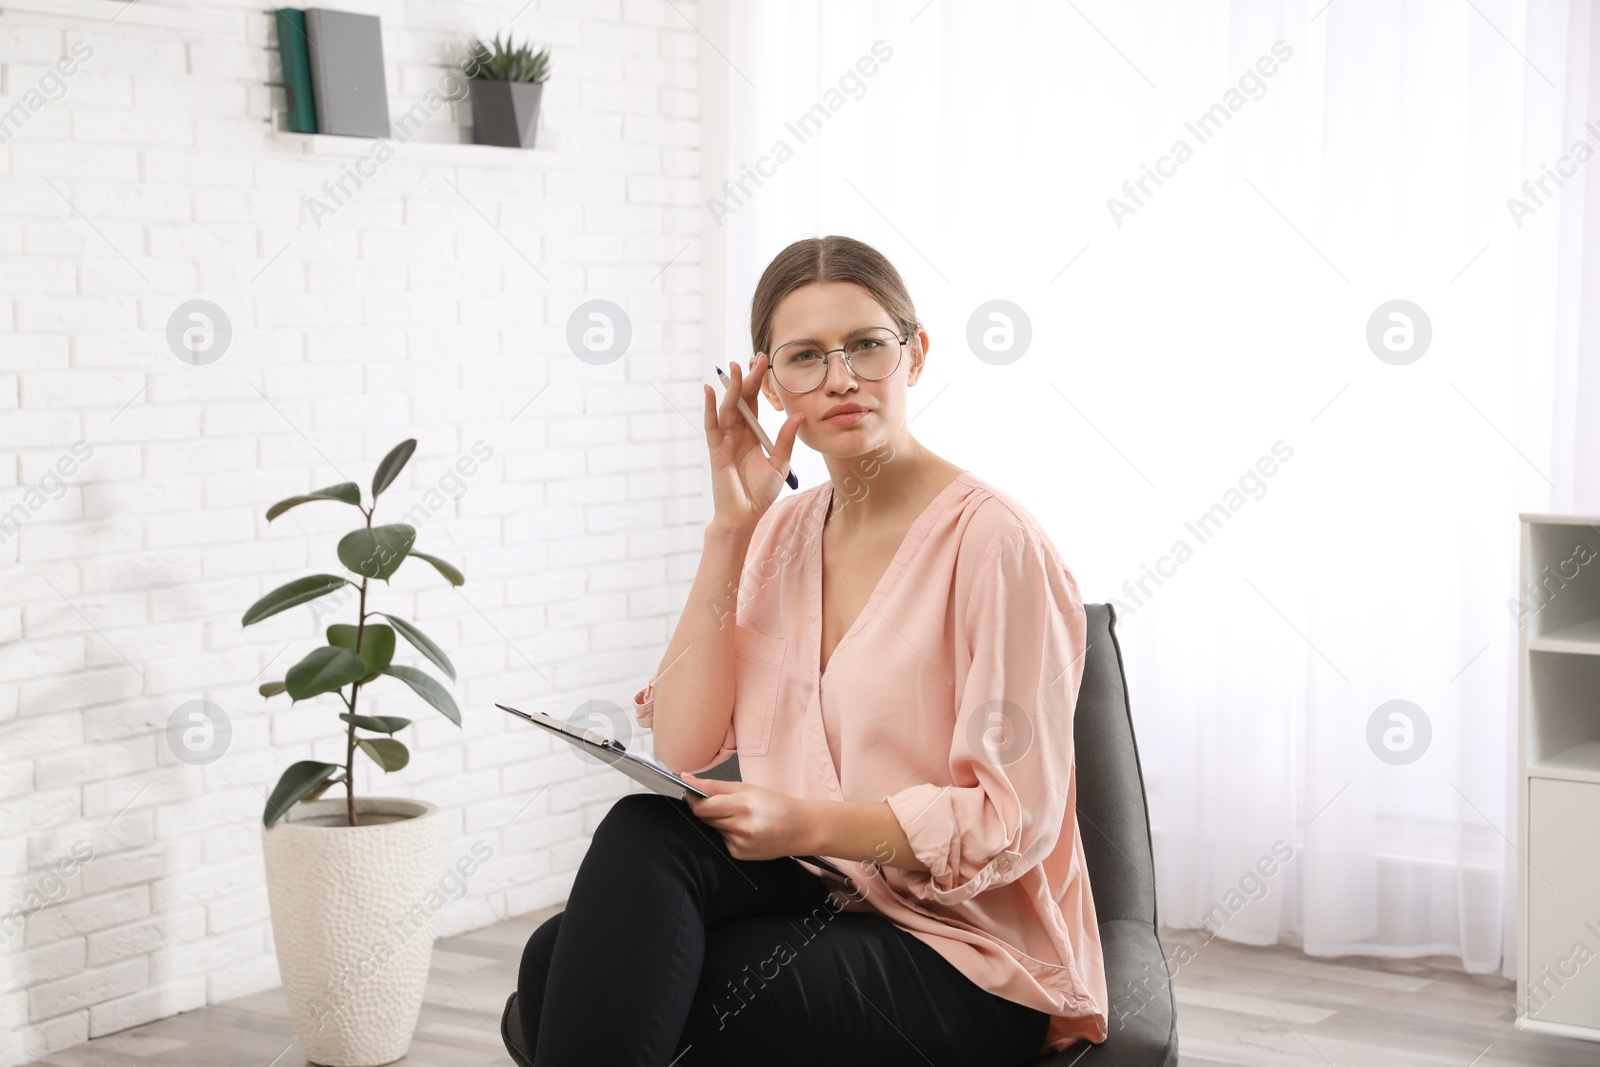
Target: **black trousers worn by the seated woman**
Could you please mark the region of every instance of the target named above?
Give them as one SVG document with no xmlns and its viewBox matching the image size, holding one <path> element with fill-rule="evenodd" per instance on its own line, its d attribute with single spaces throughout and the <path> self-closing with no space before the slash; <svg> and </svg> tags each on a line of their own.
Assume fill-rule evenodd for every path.
<svg viewBox="0 0 1600 1067">
<path fill-rule="evenodd" d="M 517 989 L 534 1067 L 1022 1067 L 1050 1022 L 658 793 L 600 821 Z"/>
</svg>

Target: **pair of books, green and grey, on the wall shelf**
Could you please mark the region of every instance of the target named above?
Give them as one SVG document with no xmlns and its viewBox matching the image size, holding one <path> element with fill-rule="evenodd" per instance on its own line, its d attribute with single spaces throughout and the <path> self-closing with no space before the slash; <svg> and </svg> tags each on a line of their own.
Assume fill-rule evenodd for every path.
<svg viewBox="0 0 1600 1067">
<path fill-rule="evenodd" d="M 291 133 L 389 136 L 382 24 L 376 14 L 277 8 Z"/>
</svg>

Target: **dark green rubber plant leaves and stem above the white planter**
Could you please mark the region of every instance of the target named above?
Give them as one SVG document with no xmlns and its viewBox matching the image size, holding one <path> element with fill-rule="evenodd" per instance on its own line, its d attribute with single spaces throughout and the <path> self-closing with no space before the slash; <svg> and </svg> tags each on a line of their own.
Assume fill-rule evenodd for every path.
<svg viewBox="0 0 1600 1067">
<path fill-rule="evenodd" d="M 290 694 L 290 702 L 307 701 L 325 693 L 336 693 L 344 702 L 339 718 L 346 723 L 344 763 L 323 763 L 320 760 L 301 760 L 291 765 L 274 787 L 262 813 L 262 822 L 272 827 L 294 803 L 315 800 L 333 785 L 344 785 L 346 811 L 350 825 L 355 822 L 355 753 L 360 750 L 378 766 L 398 771 L 411 760 L 405 744 L 395 741 L 394 734 L 411 725 L 410 718 L 395 715 L 362 715 L 357 712 L 357 701 L 362 686 L 389 677 L 403 681 L 413 693 L 438 709 L 445 718 L 461 725 L 461 710 L 456 707 L 450 691 L 432 675 L 403 664 L 394 662 L 395 635 L 403 637 L 435 667 L 445 672 L 451 681 L 456 680 L 456 669 L 443 649 L 435 645 L 422 630 L 411 622 L 382 611 L 366 609 L 366 592 L 373 579 L 389 582 L 389 576 L 406 560 L 421 560 L 443 574 L 451 585 L 461 585 L 466 579 L 450 563 L 413 549 L 416 530 L 405 523 L 387 526 L 373 525 L 373 512 L 378 510 L 378 496 L 387 490 L 400 475 L 411 453 L 416 451 L 416 438 L 406 438 L 395 445 L 378 470 L 373 474 L 373 502 L 362 506 L 362 490 L 354 482 L 331 485 L 304 496 L 291 496 L 267 509 L 267 522 L 272 522 L 291 507 L 310 504 L 312 501 L 338 501 L 355 507 L 366 517 L 366 525 L 339 539 L 336 553 L 360 582 L 357 584 L 344 574 L 310 574 L 298 577 L 288 585 L 278 585 L 270 593 L 250 605 L 242 622 L 253 625 L 269 619 L 280 611 L 317 600 L 346 585 L 360 590 L 360 606 L 355 625 L 333 624 L 328 627 L 328 643 L 312 649 L 304 659 L 288 669 L 282 681 L 267 681 L 261 686 L 261 696 L 274 697 L 280 693 Z M 371 622 L 374 616 L 387 622 Z M 349 693 L 346 693 L 349 686 Z"/>
</svg>

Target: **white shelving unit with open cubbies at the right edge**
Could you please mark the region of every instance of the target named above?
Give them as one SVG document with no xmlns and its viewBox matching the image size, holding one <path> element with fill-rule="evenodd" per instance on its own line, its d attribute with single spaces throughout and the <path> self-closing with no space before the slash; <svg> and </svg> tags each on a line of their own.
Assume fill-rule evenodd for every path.
<svg viewBox="0 0 1600 1067">
<path fill-rule="evenodd" d="M 1600 1041 L 1600 517 L 1523 515 L 1520 579 L 1517 1027 Z"/>
</svg>

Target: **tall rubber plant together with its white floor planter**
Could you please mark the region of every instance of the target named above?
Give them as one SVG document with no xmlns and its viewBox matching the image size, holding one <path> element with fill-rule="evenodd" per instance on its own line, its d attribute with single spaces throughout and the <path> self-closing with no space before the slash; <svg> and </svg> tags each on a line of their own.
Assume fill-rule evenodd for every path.
<svg viewBox="0 0 1600 1067">
<path fill-rule="evenodd" d="M 358 752 L 384 773 L 398 771 L 411 758 L 395 739 L 411 720 L 363 715 L 358 707 L 363 686 L 394 678 L 461 725 L 456 701 L 437 678 L 394 662 L 395 640 L 405 638 L 454 681 L 450 657 L 411 622 L 371 611 L 366 601 L 371 581 L 387 584 L 406 560 L 432 565 L 451 585 L 466 581 L 450 563 L 411 547 L 413 526 L 373 525 L 378 496 L 413 451 L 414 438 L 400 442 L 378 464 L 370 507 L 362 506 L 354 482 L 269 507 L 267 522 L 312 501 L 336 501 L 360 510 L 366 525 L 341 537 L 336 549 L 339 563 L 360 581 L 346 574 L 299 577 L 253 603 L 242 619 L 243 625 L 253 625 L 328 593 L 358 592 L 354 625 L 330 625 L 326 645 L 307 653 L 280 681 L 261 686 L 264 697 L 288 693 L 298 702 L 333 693 L 344 704 L 339 713 L 344 763 L 291 765 L 261 817 L 267 905 L 290 1017 L 307 1059 L 326 1067 L 376 1067 L 406 1054 L 434 950 L 438 806 L 355 795 Z M 323 798 L 333 785 L 344 785 L 344 795 Z"/>
</svg>

